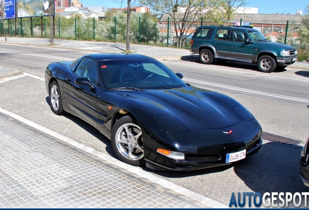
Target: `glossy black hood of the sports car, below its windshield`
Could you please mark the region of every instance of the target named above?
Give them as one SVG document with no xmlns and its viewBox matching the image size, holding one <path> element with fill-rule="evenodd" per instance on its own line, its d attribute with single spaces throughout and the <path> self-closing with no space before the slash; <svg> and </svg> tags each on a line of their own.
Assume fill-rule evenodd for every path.
<svg viewBox="0 0 309 210">
<path fill-rule="evenodd" d="M 228 127 L 246 118 L 240 112 L 245 110 L 247 114 L 249 113 L 228 96 L 194 87 L 140 91 L 117 90 L 114 93 L 121 94 L 143 106 L 154 116 L 172 116 L 188 129 Z M 241 111 L 235 107 L 240 107 Z M 250 113 L 249 115 L 251 116 L 249 120 L 253 119 Z"/>
</svg>

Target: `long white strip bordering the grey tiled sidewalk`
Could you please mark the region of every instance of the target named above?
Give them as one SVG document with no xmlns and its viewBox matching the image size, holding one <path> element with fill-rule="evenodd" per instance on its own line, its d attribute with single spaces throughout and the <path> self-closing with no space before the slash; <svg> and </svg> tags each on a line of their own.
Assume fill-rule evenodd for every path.
<svg viewBox="0 0 309 210">
<path fill-rule="evenodd" d="M 21 117 L 21 116 L 19 116 L 17 114 L 9 112 L 9 111 L 7 111 L 7 110 L 5 110 L 3 108 L 0 108 L 0 112 L 3 113 L 3 114 L 6 114 L 6 115 L 8 115 L 8 116 L 10 116 L 10 117 L 12 117 L 12 118 L 14 118 L 16 120 L 18 120 L 18 121 L 20 121 L 22 123 L 25 123 L 25 124 L 27 124 L 27 125 L 29 125 L 31 127 L 34 127 L 35 129 L 37 129 L 37 130 L 39 130 L 41 132 L 44 132 L 44 133 L 46 133 L 48 135 L 51 135 L 54 138 L 57 138 L 59 140 L 63 140 L 63 141 L 65 141 L 65 142 L 67 142 L 67 143 L 69 143 L 69 144 L 71 144 L 71 145 L 73 145 L 73 146 L 75 146 L 75 147 L 77 147 L 79 149 L 82 149 L 82 150 L 84 150 L 84 151 L 86 151 L 86 152 L 88 152 L 88 153 L 90 153 L 92 155 L 100 157 L 103 160 L 108 161 L 108 162 L 110 162 L 110 163 L 112 163 L 114 165 L 117 165 L 117 166 L 119 166 L 119 167 L 121 167 L 121 168 L 123 168 L 123 169 L 125 169 L 127 171 L 130 171 L 130 172 L 132 172 L 134 174 L 137 174 L 137 175 L 139 175 L 139 176 L 141 176 L 143 178 L 146 178 L 146 179 L 148 179 L 148 180 L 150 180 L 150 181 L 152 181 L 152 182 L 154 182 L 156 184 L 159 184 L 159 185 L 161 185 L 161 186 L 163 186 L 165 188 L 168 188 L 168 189 L 170 189 L 170 190 L 172 190 L 174 192 L 177 192 L 177 193 L 180 193 L 180 194 L 182 194 L 184 196 L 187 196 L 187 197 L 189 197 L 189 198 L 191 198 L 193 200 L 196 200 L 196 201 L 198 201 L 198 202 L 200 202 L 200 203 L 202 203 L 204 205 L 207 205 L 208 207 L 211 207 L 211 208 L 227 208 L 227 206 L 219 203 L 218 201 L 215 201 L 215 200 L 212 200 L 210 198 L 207 198 L 207 197 L 205 197 L 205 196 L 203 196 L 201 194 L 198 194 L 196 192 L 192 192 L 192 191 L 190 191 L 190 190 L 188 190 L 186 188 L 183 188 L 181 186 L 178 186 L 178 185 L 176 185 L 176 184 L 174 184 L 174 183 L 172 183 L 170 181 L 167 181 L 167 180 L 164 180 L 164 179 L 162 179 L 160 177 L 152 175 L 152 174 L 150 174 L 150 173 L 148 173 L 148 172 L 146 172 L 146 171 L 144 171 L 144 170 L 142 170 L 140 168 L 137 168 L 135 166 L 131 166 L 131 165 L 128 165 L 128 164 L 126 164 L 124 162 L 121 162 L 120 160 L 117 160 L 114 157 L 105 155 L 105 154 L 103 154 L 103 153 L 101 153 L 101 152 L 99 152 L 97 150 L 94 150 L 94 149 L 92 149 L 90 147 L 87 147 L 87 146 L 81 144 L 81 143 L 78 143 L 75 140 L 71 140 L 68 137 L 62 136 L 61 134 L 59 134 L 57 132 L 54 132 L 54 131 L 52 131 L 52 130 L 50 130 L 48 128 L 45 128 L 45 127 L 43 127 L 43 126 L 41 126 L 39 124 L 36 124 L 36 123 L 34 123 L 32 121 L 29 121 L 29 120 L 27 120 L 27 119 L 25 119 L 25 118 L 23 118 L 23 117 Z"/>
</svg>

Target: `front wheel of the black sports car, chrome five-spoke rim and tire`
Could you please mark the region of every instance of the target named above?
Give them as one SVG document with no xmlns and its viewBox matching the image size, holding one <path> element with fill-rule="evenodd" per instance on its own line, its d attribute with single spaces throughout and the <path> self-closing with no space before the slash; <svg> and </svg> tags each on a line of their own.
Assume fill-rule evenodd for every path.
<svg viewBox="0 0 309 210">
<path fill-rule="evenodd" d="M 145 165 L 140 127 L 131 117 L 120 118 L 111 133 L 112 147 L 119 159 L 134 166 Z"/>
</svg>

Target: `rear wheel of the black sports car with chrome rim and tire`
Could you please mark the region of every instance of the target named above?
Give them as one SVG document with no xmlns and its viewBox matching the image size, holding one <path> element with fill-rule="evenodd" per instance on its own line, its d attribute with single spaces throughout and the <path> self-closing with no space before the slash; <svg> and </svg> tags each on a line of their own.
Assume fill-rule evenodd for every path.
<svg viewBox="0 0 309 210">
<path fill-rule="evenodd" d="M 56 81 L 53 81 L 51 83 L 50 103 L 51 103 L 51 110 L 53 113 L 55 113 L 56 115 L 63 115 L 65 113 L 62 107 L 62 98 L 60 89 Z"/>
</svg>

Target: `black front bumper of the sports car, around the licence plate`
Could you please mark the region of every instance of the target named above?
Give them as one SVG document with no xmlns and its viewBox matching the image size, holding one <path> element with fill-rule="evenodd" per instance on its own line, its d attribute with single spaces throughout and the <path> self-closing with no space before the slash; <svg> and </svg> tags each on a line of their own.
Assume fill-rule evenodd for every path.
<svg viewBox="0 0 309 210">
<path fill-rule="evenodd" d="M 232 130 L 231 135 L 223 133 Z M 190 171 L 211 168 L 226 163 L 227 154 L 246 149 L 246 157 L 257 153 L 262 146 L 262 130 L 254 119 L 233 126 L 210 130 L 191 130 L 188 132 L 154 134 L 151 140 L 144 139 L 144 158 L 146 166 L 152 169 L 163 168 L 174 171 Z M 169 141 L 164 142 L 164 139 Z M 171 141 L 172 140 L 172 141 Z M 184 160 L 175 160 L 158 152 L 157 148 L 185 154 Z M 162 169 L 157 169 L 162 170 Z"/>
</svg>

